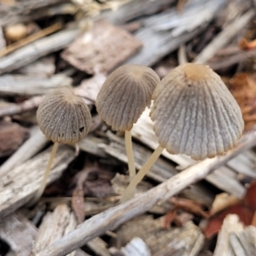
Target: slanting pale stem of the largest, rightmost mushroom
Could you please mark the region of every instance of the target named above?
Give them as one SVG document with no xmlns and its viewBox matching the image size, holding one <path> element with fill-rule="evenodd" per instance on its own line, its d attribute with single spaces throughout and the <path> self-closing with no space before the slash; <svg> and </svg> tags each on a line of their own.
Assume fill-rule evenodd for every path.
<svg viewBox="0 0 256 256">
<path fill-rule="evenodd" d="M 132 178 L 131 183 L 125 189 L 125 192 L 121 196 L 121 202 L 130 200 L 135 195 L 136 186 L 140 183 L 143 177 L 147 174 L 148 170 L 154 165 L 154 162 L 160 157 L 160 154 L 165 148 L 162 148 L 160 145 L 155 148 L 154 153 L 148 158 L 142 169 L 137 172 L 137 175 Z"/>
</svg>

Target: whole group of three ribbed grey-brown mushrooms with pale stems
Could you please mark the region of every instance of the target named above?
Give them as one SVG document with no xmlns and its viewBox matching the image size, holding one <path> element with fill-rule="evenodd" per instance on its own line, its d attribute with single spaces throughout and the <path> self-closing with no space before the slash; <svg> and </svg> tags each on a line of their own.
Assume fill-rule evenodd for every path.
<svg viewBox="0 0 256 256">
<path fill-rule="evenodd" d="M 152 100 L 150 117 L 160 145 L 136 175 L 131 129 Z M 194 160 L 204 160 L 233 148 L 244 128 L 241 109 L 222 79 L 210 67 L 200 64 L 180 65 L 161 81 L 149 67 L 131 64 L 119 67 L 102 85 L 96 109 L 113 130 L 125 131 L 131 183 L 121 201 L 131 199 L 137 183 L 164 148 L 171 154 L 187 154 Z M 55 145 L 33 201 L 44 191 L 57 145 L 79 142 L 89 132 L 91 122 L 87 105 L 68 88 L 45 96 L 37 119 L 44 135 Z"/>
</svg>

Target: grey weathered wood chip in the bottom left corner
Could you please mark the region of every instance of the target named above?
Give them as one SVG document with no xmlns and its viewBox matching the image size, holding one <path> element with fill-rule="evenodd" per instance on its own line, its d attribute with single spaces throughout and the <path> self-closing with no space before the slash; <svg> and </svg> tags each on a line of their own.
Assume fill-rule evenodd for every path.
<svg viewBox="0 0 256 256">
<path fill-rule="evenodd" d="M 21 213 L 13 213 L 0 221 L 0 238 L 20 256 L 31 252 L 37 233 L 37 228 Z"/>
</svg>

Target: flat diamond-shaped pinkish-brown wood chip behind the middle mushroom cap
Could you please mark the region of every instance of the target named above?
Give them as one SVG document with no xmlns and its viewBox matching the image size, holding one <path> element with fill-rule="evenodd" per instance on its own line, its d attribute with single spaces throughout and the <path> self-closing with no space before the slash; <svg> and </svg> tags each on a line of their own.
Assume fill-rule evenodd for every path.
<svg viewBox="0 0 256 256">
<path fill-rule="evenodd" d="M 113 26 L 107 20 L 100 20 L 61 56 L 86 73 L 94 73 L 95 67 L 101 73 L 108 73 L 142 46 L 137 38 L 121 27 Z"/>
</svg>

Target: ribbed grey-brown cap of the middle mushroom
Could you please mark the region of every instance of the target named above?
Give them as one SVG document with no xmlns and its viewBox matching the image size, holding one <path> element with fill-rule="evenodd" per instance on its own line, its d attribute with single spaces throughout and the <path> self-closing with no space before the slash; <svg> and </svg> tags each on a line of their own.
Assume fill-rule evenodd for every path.
<svg viewBox="0 0 256 256">
<path fill-rule="evenodd" d="M 150 67 L 127 64 L 116 69 L 96 99 L 96 109 L 113 130 L 130 131 L 132 125 L 150 106 L 159 76 Z"/>
</svg>

